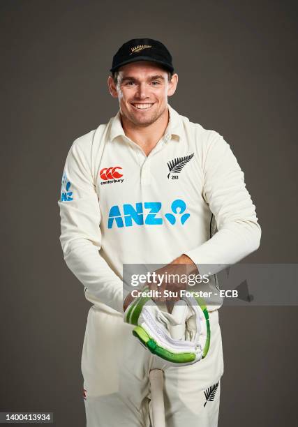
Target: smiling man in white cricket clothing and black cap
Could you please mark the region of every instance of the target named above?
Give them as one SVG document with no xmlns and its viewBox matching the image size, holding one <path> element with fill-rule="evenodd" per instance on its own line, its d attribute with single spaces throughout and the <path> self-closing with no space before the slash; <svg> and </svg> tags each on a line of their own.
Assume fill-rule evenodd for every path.
<svg viewBox="0 0 298 427">
<path fill-rule="evenodd" d="M 178 75 L 162 43 L 129 40 L 111 72 L 107 84 L 119 112 L 73 142 L 59 201 L 64 259 L 94 304 L 82 352 L 87 426 L 149 426 L 149 371 L 161 368 L 166 425 L 214 427 L 223 375 L 221 303 L 208 306 L 207 357 L 168 366 L 124 323 L 131 298 L 123 300 L 122 270 L 163 264 L 174 271 L 182 264 L 211 278 L 258 248 L 255 207 L 223 137 L 168 105 Z"/>
</svg>

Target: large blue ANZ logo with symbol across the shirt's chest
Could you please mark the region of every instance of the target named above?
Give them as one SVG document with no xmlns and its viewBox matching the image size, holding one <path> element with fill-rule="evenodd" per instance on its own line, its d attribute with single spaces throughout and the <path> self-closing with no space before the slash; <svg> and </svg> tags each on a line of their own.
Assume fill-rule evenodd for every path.
<svg viewBox="0 0 298 427">
<path fill-rule="evenodd" d="M 165 213 L 165 218 L 161 216 L 161 206 L 161 202 L 138 202 L 135 206 L 124 204 L 122 214 L 116 204 L 110 209 L 107 228 L 112 228 L 113 225 L 118 228 L 132 227 L 133 225 L 163 225 L 165 220 L 171 225 L 177 222 L 184 225 L 191 216 L 190 213 L 185 213 L 186 203 L 184 200 L 174 200 L 171 204 L 171 212 Z"/>
</svg>

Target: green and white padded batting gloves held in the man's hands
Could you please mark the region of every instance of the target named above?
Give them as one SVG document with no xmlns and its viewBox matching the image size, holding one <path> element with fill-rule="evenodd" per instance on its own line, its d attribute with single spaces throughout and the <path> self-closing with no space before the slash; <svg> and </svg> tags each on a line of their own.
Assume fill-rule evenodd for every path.
<svg viewBox="0 0 298 427">
<path fill-rule="evenodd" d="M 149 288 L 143 290 L 147 291 Z M 124 321 L 135 325 L 133 335 L 151 353 L 171 365 L 184 366 L 206 357 L 210 327 L 202 299 L 184 298 L 179 304 L 181 307 L 177 317 L 174 312 L 170 314 L 159 310 L 149 297 L 140 297 L 126 308 Z"/>
</svg>

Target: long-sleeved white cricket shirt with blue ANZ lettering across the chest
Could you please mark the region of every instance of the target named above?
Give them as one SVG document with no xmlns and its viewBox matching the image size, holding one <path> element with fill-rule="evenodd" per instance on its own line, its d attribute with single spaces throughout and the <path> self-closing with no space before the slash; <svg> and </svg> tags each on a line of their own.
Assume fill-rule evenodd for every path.
<svg viewBox="0 0 298 427">
<path fill-rule="evenodd" d="M 89 301 L 120 313 L 123 264 L 167 264 L 184 253 L 200 274 L 216 274 L 260 244 L 230 146 L 170 105 L 169 112 L 149 156 L 126 137 L 118 112 L 75 140 L 66 158 L 58 201 L 64 259 Z"/>
</svg>

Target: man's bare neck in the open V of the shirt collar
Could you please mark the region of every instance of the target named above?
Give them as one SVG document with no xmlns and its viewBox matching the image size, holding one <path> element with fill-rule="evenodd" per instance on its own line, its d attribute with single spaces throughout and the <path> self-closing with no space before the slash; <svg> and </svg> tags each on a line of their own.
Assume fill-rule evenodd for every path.
<svg viewBox="0 0 298 427">
<path fill-rule="evenodd" d="M 156 146 L 165 133 L 169 122 L 169 110 L 165 109 L 163 114 L 154 123 L 147 126 L 137 126 L 121 114 L 121 123 L 125 135 L 142 148 L 146 156 Z"/>
</svg>

